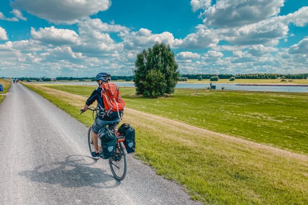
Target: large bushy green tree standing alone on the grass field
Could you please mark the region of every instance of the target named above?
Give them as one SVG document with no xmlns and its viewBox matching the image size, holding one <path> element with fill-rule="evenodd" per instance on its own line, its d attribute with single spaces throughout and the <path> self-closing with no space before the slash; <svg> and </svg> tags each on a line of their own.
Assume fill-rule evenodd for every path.
<svg viewBox="0 0 308 205">
<path fill-rule="evenodd" d="M 173 93 L 180 76 L 175 54 L 164 43 L 156 43 L 139 53 L 132 72 L 136 94 L 145 97 Z"/>
</svg>

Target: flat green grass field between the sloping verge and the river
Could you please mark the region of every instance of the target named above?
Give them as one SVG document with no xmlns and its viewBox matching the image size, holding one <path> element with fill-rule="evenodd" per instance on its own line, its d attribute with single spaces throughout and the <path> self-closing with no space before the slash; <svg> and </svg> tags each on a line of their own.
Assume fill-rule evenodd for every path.
<svg viewBox="0 0 308 205">
<path fill-rule="evenodd" d="M 94 87 L 45 85 L 88 97 Z M 151 99 L 121 88 L 127 107 L 211 131 L 308 154 L 308 93 L 176 89 Z"/>
</svg>

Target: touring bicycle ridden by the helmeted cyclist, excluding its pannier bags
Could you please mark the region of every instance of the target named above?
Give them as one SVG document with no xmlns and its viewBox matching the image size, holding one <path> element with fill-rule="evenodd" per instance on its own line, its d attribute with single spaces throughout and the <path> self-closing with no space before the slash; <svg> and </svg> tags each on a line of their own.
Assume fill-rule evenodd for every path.
<svg viewBox="0 0 308 205">
<path fill-rule="evenodd" d="M 95 117 L 98 115 L 98 110 L 96 108 L 88 108 L 88 110 L 93 111 L 92 113 L 92 117 L 94 118 L 94 112 L 97 112 L 97 114 L 95 115 Z M 107 124 L 106 127 L 112 124 Z M 93 141 L 92 141 L 92 127 L 89 128 L 88 131 L 88 145 L 89 145 L 89 150 L 90 153 L 94 152 L 94 145 L 93 145 Z M 118 132 L 119 133 L 119 132 Z M 121 136 L 120 133 L 118 134 L 119 136 L 115 136 L 117 138 L 117 141 L 115 142 L 115 150 L 114 153 L 111 157 L 108 158 L 109 161 L 109 166 L 111 169 L 111 172 L 113 174 L 113 176 L 117 179 L 117 180 L 123 180 L 126 176 L 127 173 L 127 151 L 125 149 L 125 145 L 124 145 L 124 141 L 125 141 L 125 137 Z M 99 139 L 101 140 L 101 139 Z M 99 149 L 101 150 L 102 148 L 99 147 Z M 100 151 L 101 152 L 101 151 Z M 100 153 L 101 154 L 101 153 Z"/>
</svg>

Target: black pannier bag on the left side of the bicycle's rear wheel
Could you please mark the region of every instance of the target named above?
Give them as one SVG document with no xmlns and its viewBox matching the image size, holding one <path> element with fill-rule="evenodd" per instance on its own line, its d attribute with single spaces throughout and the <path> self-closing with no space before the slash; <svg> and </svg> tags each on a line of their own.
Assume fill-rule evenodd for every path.
<svg viewBox="0 0 308 205">
<path fill-rule="evenodd" d="M 101 140 L 101 146 L 103 148 L 100 156 L 103 159 L 108 159 L 113 155 L 117 138 L 115 138 L 114 132 L 112 130 L 109 130 L 107 127 L 100 130 L 99 138 L 99 140 Z"/>
</svg>

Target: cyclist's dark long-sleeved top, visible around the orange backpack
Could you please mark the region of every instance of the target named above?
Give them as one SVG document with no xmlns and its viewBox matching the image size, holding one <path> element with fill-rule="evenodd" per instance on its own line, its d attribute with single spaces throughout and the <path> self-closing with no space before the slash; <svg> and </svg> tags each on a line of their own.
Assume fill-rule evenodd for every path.
<svg viewBox="0 0 308 205">
<path fill-rule="evenodd" d="M 92 92 L 91 96 L 86 101 L 86 105 L 87 106 L 92 105 L 95 100 L 98 101 L 98 107 L 100 109 L 105 108 L 104 101 L 103 101 L 103 98 L 102 98 L 102 88 L 100 88 L 100 87 Z M 120 116 L 122 114 L 123 114 L 123 111 L 120 111 Z M 101 120 L 104 120 L 104 121 L 112 121 L 112 120 L 119 119 L 119 116 L 118 116 L 118 113 L 112 113 L 109 116 L 108 115 L 105 115 L 104 117 L 99 116 L 99 118 Z"/>
</svg>

